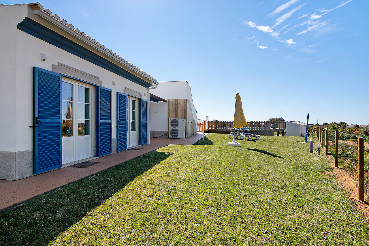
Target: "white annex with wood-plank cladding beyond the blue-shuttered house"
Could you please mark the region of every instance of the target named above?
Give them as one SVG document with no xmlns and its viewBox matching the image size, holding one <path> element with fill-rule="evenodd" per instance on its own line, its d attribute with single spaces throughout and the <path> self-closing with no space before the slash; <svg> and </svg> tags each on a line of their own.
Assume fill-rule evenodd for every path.
<svg viewBox="0 0 369 246">
<path fill-rule="evenodd" d="M 197 134 L 197 112 L 191 86 L 187 81 L 159 82 L 158 88 L 151 90 L 151 93 L 154 95 L 151 94 L 149 103 L 150 137 L 185 139 Z M 170 133 L 173 129 L 170 119 L 183 119 L 180 120 L 183 121 L 182 126 L 178 126 L 182 127 L 178 135 Z"/>
</svg>

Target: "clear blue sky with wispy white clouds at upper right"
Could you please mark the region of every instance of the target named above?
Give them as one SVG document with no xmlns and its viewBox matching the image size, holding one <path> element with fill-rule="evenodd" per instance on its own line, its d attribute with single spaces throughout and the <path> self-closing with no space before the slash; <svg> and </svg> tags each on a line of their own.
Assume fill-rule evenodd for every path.
<svg viewBox="0 0 369 246">
<path fill-rule="evenodd" d="M 368 0 L 40 3 L 158 81 L 189 82 L 199 119 L 233 120 L 239 93 L 246 120 L 369 124 Z"/>
</svg>

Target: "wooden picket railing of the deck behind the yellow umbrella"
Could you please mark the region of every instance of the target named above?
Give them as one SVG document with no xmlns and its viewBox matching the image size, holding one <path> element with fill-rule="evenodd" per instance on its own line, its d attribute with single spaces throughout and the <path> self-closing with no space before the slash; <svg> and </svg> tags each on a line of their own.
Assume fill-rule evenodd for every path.
<svg viewBox="0 0 369 246">
<path fill-rule="evenodd" d="M 250 131 L 283 131 L 285 121 L 248 121 L 242 129 Z M 204 121 L 197 124 L 197 131 L 224 131 L 233 128 L 233 121 Z"/>
</svg>

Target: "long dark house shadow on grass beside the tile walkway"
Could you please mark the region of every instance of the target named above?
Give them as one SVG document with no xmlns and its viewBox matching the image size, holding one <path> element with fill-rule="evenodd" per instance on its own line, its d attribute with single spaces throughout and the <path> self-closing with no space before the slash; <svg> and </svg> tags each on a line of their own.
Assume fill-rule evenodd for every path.
<svg viewBox="0 0 369 246">
<path fill-rule="evenodd" d="M 154 167 L 156 150 L 0 213 L 0 245 L 47 245 L 60 233 Z"/>
</svg>

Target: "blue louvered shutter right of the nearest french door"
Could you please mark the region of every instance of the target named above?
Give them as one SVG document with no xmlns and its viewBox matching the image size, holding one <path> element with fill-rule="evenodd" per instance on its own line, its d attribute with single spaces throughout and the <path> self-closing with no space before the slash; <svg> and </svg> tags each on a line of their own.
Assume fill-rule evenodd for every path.
<svg viewBox="0 0 369 246">
<path fill-rule="evenodd" d="M 99 86 L 97 93 L 97 156 L 113 153 L 113 133 L 111 129 L 112 90 Z"/>
</svg>

